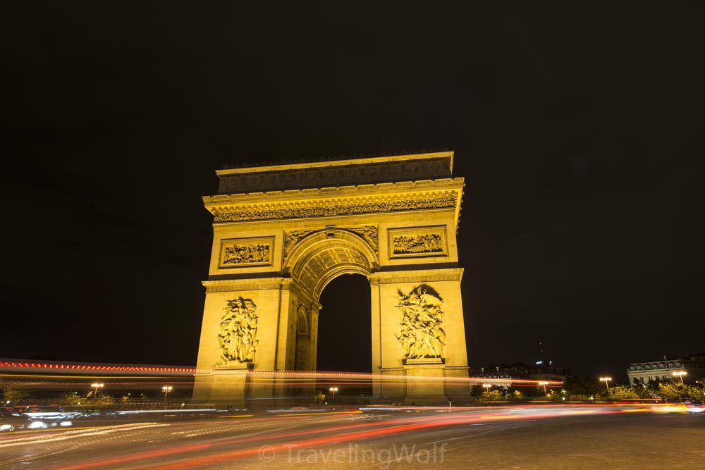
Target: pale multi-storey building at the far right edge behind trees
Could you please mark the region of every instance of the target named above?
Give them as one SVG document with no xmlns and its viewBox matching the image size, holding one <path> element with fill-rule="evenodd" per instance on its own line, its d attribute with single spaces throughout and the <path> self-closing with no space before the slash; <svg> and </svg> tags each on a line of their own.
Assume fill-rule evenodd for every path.
<svg viewBox="0 0 705 470">
<path fill-rule="evenodd" d="M 684 383 L 701 381 L 705 378 L 705 353 L 663 356 L 661 361 L 634 362 L 629 365 L 627 376 L 632 385 L 649 381 L 680 381 L 681 377 Z"/>
</svg>

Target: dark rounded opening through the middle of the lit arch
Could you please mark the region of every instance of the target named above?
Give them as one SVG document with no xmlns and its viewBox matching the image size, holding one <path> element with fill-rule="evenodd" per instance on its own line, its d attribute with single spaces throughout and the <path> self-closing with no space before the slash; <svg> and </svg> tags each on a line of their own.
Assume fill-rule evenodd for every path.
<svg viewBox="0 0 705 470">
<path fill-rule="evenodd" d="M 369 281 L 343 274 L 320 297 L 317 369 L 372 372 L 372 318 Z"/>
</svg>

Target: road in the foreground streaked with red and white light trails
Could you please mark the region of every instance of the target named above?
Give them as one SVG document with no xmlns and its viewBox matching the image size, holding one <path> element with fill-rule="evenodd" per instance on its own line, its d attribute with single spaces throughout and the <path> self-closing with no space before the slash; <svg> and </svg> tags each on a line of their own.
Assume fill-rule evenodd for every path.
<svg viewBox="0 0 705 470">
<path fill-rule="evenodd" d="M 639 407 L 281 412 L 0 436 L 1 469 L 703 468 L 705 416 Z"/>
</svg>

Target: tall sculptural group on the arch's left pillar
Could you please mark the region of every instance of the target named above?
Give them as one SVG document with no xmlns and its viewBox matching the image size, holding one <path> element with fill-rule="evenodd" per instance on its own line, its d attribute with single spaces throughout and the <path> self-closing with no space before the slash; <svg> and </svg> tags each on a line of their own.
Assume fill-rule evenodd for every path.
<svg viewBox="0 0 705 470">
<path fill-rule="evenodd" d="M 252 364 L 257 352 L 257 305 L 251 299 L 228 300 L 218 333 L 220 361 L 217 365 Z"/>
</svg>

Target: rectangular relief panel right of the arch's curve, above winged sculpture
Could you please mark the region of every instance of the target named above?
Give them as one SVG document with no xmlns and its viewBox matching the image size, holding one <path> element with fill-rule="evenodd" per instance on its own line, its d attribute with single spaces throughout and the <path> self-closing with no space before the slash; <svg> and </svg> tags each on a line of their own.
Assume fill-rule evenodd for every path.
<svg viewBox="0 0 705 470">
<path fill-rule="evenodd" d="M 390 258 L 448 256 L 446 225 L 391 228 L 387 233 Z"/>
</svg>

